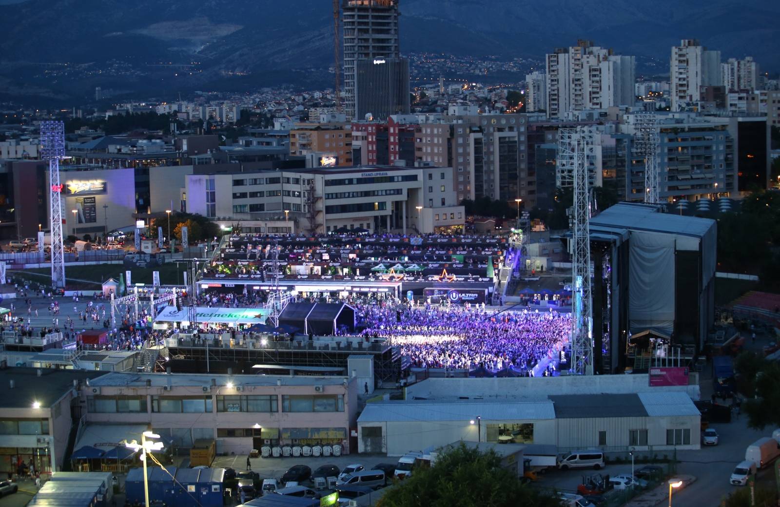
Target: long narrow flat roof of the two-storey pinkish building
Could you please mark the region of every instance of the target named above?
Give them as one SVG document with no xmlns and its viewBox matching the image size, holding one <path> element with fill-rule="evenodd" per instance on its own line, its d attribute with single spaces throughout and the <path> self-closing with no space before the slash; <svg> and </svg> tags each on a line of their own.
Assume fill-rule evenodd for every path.
<svg viewBox="0 0 780 507">
<path fill-rule="evenodd" d="M 344 377 L 289 377 L 284 375 L 227 375 L 227 374 L 134 374 L 111 372 L 90 381 L 96 387 L 144 387 L 147 381 L 151 387 L 172 385 L 175 387 L 204 387 L 215 381 L 218 387 L 228 384 L 241 386 L 275 386 L 277 381 L 282 385 L 342 385 Z"/>
</svg>

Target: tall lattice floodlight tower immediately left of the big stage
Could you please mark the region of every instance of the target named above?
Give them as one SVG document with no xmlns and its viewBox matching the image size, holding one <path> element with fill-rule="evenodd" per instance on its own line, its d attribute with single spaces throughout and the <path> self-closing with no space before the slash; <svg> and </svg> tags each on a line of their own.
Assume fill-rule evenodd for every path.
<svg viewBox="0 0 780 507">
<path fill-rule="evenodd" d="M 572 208 L 572 371 L 593 374 L 593 296 L 590 268 L 590 190 L 588 160 L 594 152 L 593 133 L 587 127 L 559 131 L 558 151 L 573 162 Z M 563 141 L 562 141 L 563 139 Z"/>
</svg>

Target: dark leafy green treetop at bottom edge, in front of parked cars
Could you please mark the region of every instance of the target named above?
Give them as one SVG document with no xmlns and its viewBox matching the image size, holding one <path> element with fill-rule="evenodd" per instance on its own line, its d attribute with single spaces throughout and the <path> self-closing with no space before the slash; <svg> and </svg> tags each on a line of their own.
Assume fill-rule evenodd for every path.
<svg viewBox="0 0 780 507">
<path fill-rule="evenodd" d="M 379 507 L 552 507 L 558 498 L 522 484 L 516 473 L 502 468 L 494 451 L 480 452 L 461 442 L 442 452 L 434 466 L 416 468 L 391 488 Z"/>
</svg>

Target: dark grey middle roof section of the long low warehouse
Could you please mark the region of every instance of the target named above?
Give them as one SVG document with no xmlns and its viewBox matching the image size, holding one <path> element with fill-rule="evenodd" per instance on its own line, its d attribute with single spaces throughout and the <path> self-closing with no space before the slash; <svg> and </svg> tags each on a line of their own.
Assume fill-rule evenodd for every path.
<svg viewBox="0 0 780 507">
<path fill-rule="evenodd" d="M 582 419 L 589 417 L 647 417 L 647 411 L 636 394 L 552 395 L 555 417 Z"/>
</svg>

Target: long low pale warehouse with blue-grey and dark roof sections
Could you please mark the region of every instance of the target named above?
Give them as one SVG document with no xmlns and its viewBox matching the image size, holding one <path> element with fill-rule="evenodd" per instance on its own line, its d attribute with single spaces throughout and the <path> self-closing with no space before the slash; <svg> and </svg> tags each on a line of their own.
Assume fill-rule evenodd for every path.
<svg viewBox="0 0 780 507">
<path fill-rule="evenodd" d="M 519 384 L 523 379 L 497 380 Z M 519 385 L 513 387 L 510 392 L 519 392 Z M 699 449 L 700 413 L 690 396 L 656 389 L 368 403 L 357 419 L 358 452 L 401 456 L 458 440 L 555 445 L 558 452 Z"/>
</svg>

